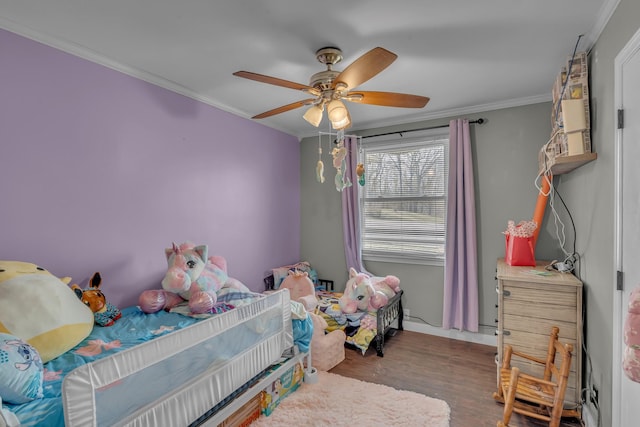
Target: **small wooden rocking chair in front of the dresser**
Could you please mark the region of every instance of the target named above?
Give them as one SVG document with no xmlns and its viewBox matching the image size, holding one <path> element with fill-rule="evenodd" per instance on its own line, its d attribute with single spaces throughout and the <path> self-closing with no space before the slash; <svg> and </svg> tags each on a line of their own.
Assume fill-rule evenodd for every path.
<svg viewBox="0 0 640 427">
<path fill-rule="evenodd" d="M 513 412 L 548 421 L 549 427 L 558 427 L 562 416 L 576 415 L 575 411 L 563 413 L 573 346 L 558 341 L 559 331 L 557 326 L 551 329 L 546 360 L 515 351 L 508 344 L 504 346 L 500 384 L 498 391 L 493 393 L 495 400 L 504 403 L 503 418 L 498 421 L 498 427 L 508 427 Z M 561 361 L 556 361 L 557 355 L 561 356 Z M 543 366 L 543 377 L 524 374 L 518 367 L 512 367 L 512 356 L 522 358 L 534 366 Z"/>
</svg>

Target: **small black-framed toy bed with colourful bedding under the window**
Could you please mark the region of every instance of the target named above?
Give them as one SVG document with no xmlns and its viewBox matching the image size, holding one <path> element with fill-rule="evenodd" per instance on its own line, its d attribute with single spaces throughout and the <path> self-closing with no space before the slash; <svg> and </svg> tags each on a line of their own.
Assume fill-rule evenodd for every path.
<svg viewBox="0 0 640 427">
<path fill-rule="evenodd" d="M 347 335 L 346 342 L 360 349 L 363 355 L 371 343 L 375 343 L 376 353 L 383 357 L 385 336 L 387 334 L 393 336 L 396 330 L 403 329 L 402 293 L 401 290 L 395 294 L 386 305 L 380 307 L 375 313 L 358 311 L 353 314 L 345 314 L 340 310 L 338 304 L 338 300 L 342 296 L 341 292 L 318 290 L 316 292 L 318 314 L 327 321 L 329 325 L 327 331 L 344 330 Z M 394 328 L 393 323 L 396 319 L 398 327 Z"/>
</svg>

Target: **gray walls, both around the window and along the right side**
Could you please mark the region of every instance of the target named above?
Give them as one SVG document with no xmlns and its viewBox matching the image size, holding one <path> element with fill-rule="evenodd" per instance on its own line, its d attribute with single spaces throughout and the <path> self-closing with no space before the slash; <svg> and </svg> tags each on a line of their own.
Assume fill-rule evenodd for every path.
<svg viewBox="0 0 640 427">
<path fill-rule="evenodd" d="M 577 275 L 584 282 L 585 358 L 584 386 L 591 378 L 600 393 L 601 426 L 611 425 L 613 286 L 614 264 L 614 63 L 615 57 L 640 29 L 640 2 L 621 0 L 589 55 L 591 91 L 591 135 L 598 159 L 571 173 L 555 178 L 576 227 L 576 251 L 580 254 Z M 568 52 L 570 54 L 570 52 Z M 560 68 L 562 64 L 558 64 Z M 549 82 L 549 89 L 553 82 Z M 493 325 L 495 317 L 495 260 L 504 254 L 501 232 L 509 219 L 529 219 L 537 190 L 537 153 L 550 132 L 550 103 L 508 108 L 470 115 L 486 118 L 484 125 L 472 125 L 476 167 L 480 321 Z M 387 130 L 419 128 L 447 123 L 448 119 L 416 123 L 397 128 L 360 132 L 361 135 Z M 354 132 L 357 133 L 357 132 Z M 326 149 L 326 148 L 325 148 Z M 340 195 L 329 181 L 318 184 L 314 167 L 317 138 L 301 145 L 301 257 L 312 262 L 323 277 L 344 286 L 347 278 L 342 249 Z M 325 160 L 325 164 L 328 162 Z M 329 165 L 330 166 L 330 165 Z M 331 170 L 327 168 L 328 177 Z M 574 235 L 571 221 L 559 200 L 558 213 L 565 224 L 566 248 L 571 251 Z M 536 257 L 561 258 L 555 227 L 545 215 Z M 441 324 L 441 268 L 415 265 L 371 263 L 374 274 L 395 274 L 406 292 L 404 305 L 412 316 L 434 325 Z M 492 334 L 489 326 L 483 333 Z"/>
</svg>

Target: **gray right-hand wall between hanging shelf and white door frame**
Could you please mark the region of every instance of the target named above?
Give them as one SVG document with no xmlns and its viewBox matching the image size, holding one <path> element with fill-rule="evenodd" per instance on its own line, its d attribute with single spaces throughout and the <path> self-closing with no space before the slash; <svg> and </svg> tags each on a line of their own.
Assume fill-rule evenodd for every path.
<svg viewBox="0 0 640 427">
<path fill-rule="evenodd" d="M 585 342 L 593 383 L 600 391 L 602 425 L 611 425 L 614 262 L 614 63 L 640 29 L 640 2 L 621 0 L 591 50 L 593 150 L 598 159 L 562 177 L 560 188 L 571 207 L 581 254 L 579 275 L 586 300 Z M 589 368 L 589 366 L 587 366 Z M 588 372 L 589 374 L 589 372 Z M 585 381 L 588 379 L 585 378 Z M 588 384 L 586 384 L 588 385 Z"/>
</svg>

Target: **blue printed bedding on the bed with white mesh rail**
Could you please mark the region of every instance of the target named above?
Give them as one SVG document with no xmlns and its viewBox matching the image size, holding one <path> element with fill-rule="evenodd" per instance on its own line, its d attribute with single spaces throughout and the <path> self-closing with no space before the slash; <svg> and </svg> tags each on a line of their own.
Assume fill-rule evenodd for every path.
<svg viewBox="0 0 640 427">
<path fill-rule="evenodd" d="M 225 307 L 223 311 L 226 311 L 233 307 L 251 304 L 253 301 L 263 297 L 264 296 L 260 294 L 238 293 L 237 291 L 229 290 L 220 293 L 218 302 Z M 178 329 L 193 325 L 205 318 L 217 315 L 217 313 L 191 315 L 188 312 L 188 308 L 185 309 L 185 307 L 177 307 L 172 311 L 173 312 L 160 311 L 154 314 L 146 314 L 138 307 L 123 309 L 122 317 L 112 326 L 94 326 L 91 334 L 80 344 L 44 365 L 44 397 L 42 399 L 21 405 L 3 403 L 3 408 L 12 411 L 18 417 L 21 425 L 24 426 L 64 426 L 62 383 L 64 377 L 75 368 L 125 351 L 160 336 L 170 334 Z M 166 370 L 169 369 L 173 375 L 182 375 L 180 380 L 185 379 L 184 375 L 198 375 L 198 372 L 211 367 L 211 351 L 215 352 L 216 360 L 233 357 L 233 355 L 239 351 L 238 349 L 243 348 L 242 346 L 249 345 L 247 341 L 252 342 L 255 336 L 260 335 L 265 321 L 268 322 L 269 320 L 256 318 L 255 321 L 243 325 L 241 330 L 235 327 L 230 330 L 225 330 L 220 335 L 222 341 L 218 341 L 225 344 L 217 347 L 215 350 L 208 348 L 208 346 L 210 346 L 209 343 L 203 342 L 200 345 L 203 350 L 202 353 L 192 354 L 193 358 L 190 358 L 188 361 L 188 366 L 174 364 L 167 367 L 166 364 L 174 363 L 172 359 L 167 359 L 156 367 L 156 371 L 143 370 L 123 381 L 134 381 L 139 384 L 144 384 L 147 390 L 144 396 L 146 399 L 159 398 L 163 393 L 171 390 L 171 384 L 168 383 L 173 383 L 174 381 L 169 379 L 171 375 L 158 375 L 157 372 L 167 372 Z M 247 334 L 241 333 L 247 328 Z M 294 327 L 293 338 L 299 347 L 304 348 L 306 346 L 308 348 L 310 336 L 306 334 L 304 330 L 301 331 L 299 328 Z M 199 356 L 199 354 L 203 355 Z M 206 354 L 209 354 L 209 356 L 206 356 Z M 215 361 L 213 363 L 215 363 Z M 163 367 L 163 365 L 165 366 Z M 153 372 L 156 372 L 156 374 Z M 126 384 L 121 385 L 125 386 L 125 390 L 135 393 L 135 387 L 129 387 Z M 116 396 L 119 393 L 122 393 L 122 388 L 118 387 L 114 389 L 105 388 L 99 391 L 100 405 L 98 405 L 97 408 L 99 425 L 112 425 L 115 420 L 119 419 L 113 417 L 121 416 L 122 412 L 131 413 L 141 405 L 141 403 L 137 401 L 138 396 L 132 396 L 130 399 L 126 399 L 127 404 L 125 404 L 125 406 L 131 406 L 131 408 L 121 407 L 119 408 L 120 414 L 116 415 L 115 412 L 118 411 L 109 410 L 109 408 L 113 408 L 112 402 L 121 402 L 121 396 Z M 154 393 L 157 394 L 157 396 Z M 92 396 L 87 396 L 87 399 L 91 398 Z M 122 403 L 118 405 L 122 406 Z M 46 420 L 46 422 L 43 423 L 43 420 Z"/>
</svg>

